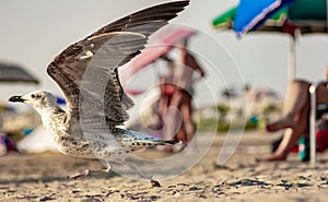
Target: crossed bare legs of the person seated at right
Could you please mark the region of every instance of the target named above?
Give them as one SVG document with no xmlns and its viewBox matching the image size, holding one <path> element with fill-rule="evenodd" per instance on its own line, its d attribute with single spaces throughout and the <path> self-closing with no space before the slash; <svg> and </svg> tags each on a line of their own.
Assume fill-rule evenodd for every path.
<svg viewBox="0 0 328 202">
<path fill-rule="evenodd" d="M 293 80 L 288 86 L 282 116 L 266 128 L 269 132 L 286 129 L 282 141 L 271 156 L 259 158 L 259 162 L 284 161 L 296 145 L 302 135 L 309 133 L 309 92 L 311 83 L 303 80 Z M 328 87 L 318 86 L 316 91 L 317 105 L 328 103 Z"/>
</svg>

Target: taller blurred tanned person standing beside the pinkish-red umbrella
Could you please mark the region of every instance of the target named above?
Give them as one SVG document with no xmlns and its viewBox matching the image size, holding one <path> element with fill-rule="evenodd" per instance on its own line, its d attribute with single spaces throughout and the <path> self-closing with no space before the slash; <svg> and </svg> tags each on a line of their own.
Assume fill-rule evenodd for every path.
<svg viewBox="0 0 328 202">
<path fill-rule="evenodd" d="M 180 55 L 180 62 L 174 67 L 173 82 L 175 90 L 169 100 L 168 110 L 164 115 L 164 139 L 178 140 L 187 144 L 191 142 L 196 132 L 191 105 L 194 75 L 198 74 L 196 78 L 200 79 L 206 73 L 196 58 L 187 50 L 187 39 L 177 48 Z M 177 134 L 174 135 L 176 131 Z M 169 146 L 166 147 L 166 151 L 171 150 Z"/>
</svg>

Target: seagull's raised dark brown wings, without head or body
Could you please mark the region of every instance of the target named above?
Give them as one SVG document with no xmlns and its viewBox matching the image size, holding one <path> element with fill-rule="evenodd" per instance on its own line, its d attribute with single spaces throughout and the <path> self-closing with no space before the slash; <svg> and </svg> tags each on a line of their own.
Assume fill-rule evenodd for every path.
<svg viewBox="0 0 328 202">
<path fill-rule="evenodd" d="M 95 95 L 92 88 L 104 85 L 104 112 L 112 124 L 127 120 L 126 109 L 133 103 L 124 93 L 117 68 L 130 61 L 144 48 L 148 37 L 177 16 L 189 1 L 176 1 L 155 5 L 110 23 L 81 41 L 69 46 L 48 66 L 48 74 L 58 83 L 67 97 L 67 109 L 71 116 L 79 116 L 82 81 L 86 74 L 94 74 L 86 81 L 90 90 L 84 95 Z M 103 79 L 97 79 L 97 75 Z M 106 80 L 103 75 L 106 75 Z M 87 99 L 87 96 L 84 96 Z M 92 107 L 92 106 L 91 106 Z"/>
</svg>

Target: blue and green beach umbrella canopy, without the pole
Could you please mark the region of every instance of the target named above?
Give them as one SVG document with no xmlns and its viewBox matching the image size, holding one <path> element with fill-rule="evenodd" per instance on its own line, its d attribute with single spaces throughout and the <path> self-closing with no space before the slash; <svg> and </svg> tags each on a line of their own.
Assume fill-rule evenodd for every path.
<svg viewBox="0 0 328 202">
<path fill-rule="evenodd" d="M 327 33 L 326 0 L 289 0 L 283 2 L 272 12 L 262 8 L 267 13 L 265 15 L 260 10 L 253 8 L 254 1 L 250 3 L 251 10 L 249 10 L 248 7 L 244 5 L 245 0 L 241 0 L 238 5 L 213 19 L 212 25 L 221 29 L 233 28 L 239 35 L 249 31 L 286 32 L 282 29 L 284 23 L 296 26 L 302 34 Z M 254 20 L 251 21 L 249 16 Z"/>
</svg>

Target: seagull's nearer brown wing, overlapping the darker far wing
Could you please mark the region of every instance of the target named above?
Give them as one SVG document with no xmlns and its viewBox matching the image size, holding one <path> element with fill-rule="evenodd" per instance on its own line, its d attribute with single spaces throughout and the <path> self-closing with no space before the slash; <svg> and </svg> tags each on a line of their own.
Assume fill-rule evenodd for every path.
<svg viewBox="0 0 328 202">
<path fill-rule="evenodd" d="M 67 97 L 69 108 L 79 110 L 79 97 L 81 82 L 92 81 L 92 88 L 106 86 L 105 91 L 105 111 L 113 121 L 121 123 L 127 119 L 125 103 L 121 103 L 122 88 L 120 86 L 117 67 L 128 62 L 134 55 L 144 48 L 147 38 L 136 33 L 110 33 L 90 37 L 75 43 L 72 55 L 67 56 L 67 60 L 59 55 L 47 69 L 49 75 L 60 85 Z M 85 75 L 85 71 L 92 70 L 94 76 Z M 89 76 L 89 78 L 86 78 Z M 102 78 L 102 79 L 101 79 Z M 102 83 L 103 82 L 103 83 Z M 82 87 L 85 87 L 82 86 Z M 91 90 L 90 90 L 91 91 Z M 125 102 L 130 103 L 128 99 Z M 127 104 L 127 106 L 130 106 Z M 116 108 L 116 109 L 115 109 Z M 114 110 L 115 109 L 115 110 Z M 120 119 L 118 119 L 121 117 Z"/>
</svg>

